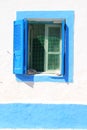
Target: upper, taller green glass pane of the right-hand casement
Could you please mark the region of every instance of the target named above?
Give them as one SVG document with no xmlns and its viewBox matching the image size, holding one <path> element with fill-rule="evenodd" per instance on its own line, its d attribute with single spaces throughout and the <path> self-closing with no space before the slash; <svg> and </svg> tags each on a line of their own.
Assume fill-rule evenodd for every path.
<svg viewBox="0 0 87 130">
<path fill-rule="evenodd" d="M 60 52 L 60 28 L 48 28 L 48 52 Z"/>
</svg>

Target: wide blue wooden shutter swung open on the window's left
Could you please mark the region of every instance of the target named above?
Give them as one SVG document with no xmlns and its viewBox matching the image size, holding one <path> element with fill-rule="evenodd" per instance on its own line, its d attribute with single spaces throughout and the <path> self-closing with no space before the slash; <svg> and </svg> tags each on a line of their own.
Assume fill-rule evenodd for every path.
<svg viewBox="0 0 87 130">
<path fill-rule="evenodd" d="M 13 73 L 25 73 L 25 33 L 24 20 L 14 21 Z"/>
</svg>

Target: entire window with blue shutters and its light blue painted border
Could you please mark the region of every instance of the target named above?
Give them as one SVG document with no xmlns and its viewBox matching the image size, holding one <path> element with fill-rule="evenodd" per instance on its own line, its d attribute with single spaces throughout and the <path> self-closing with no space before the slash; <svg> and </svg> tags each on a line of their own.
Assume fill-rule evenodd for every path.
<svg viewBox="0 0 87 130">
<path fill-rule="evenodd" d="M 32 13 L 33 18 L 28 13 Z M 40 13 L 45 14 L 45 18 Z M 73 42 L 69 31 L 73 25 L 71 27 L 70 19 L 66 17 L 68 12 L 67 15 L 55 11 L 47 13 L 48 17 L 44 11 L 18 12 L 18 18 L 14 21 L 13 73 L 27 77 L 31 74 L 47 78 L 52 76 L 54 80 L 69 81 L 68 76 L 72 74 L 72 71 L 69 72 L 72 63 L 69 46 Z M 49 17 L 50 13 L 54 14 L 54 18 Z M 56 13 L 59 14 L 58 18 Z M 34 17 L 36 14 L 38 17 Z"/>
</svg>

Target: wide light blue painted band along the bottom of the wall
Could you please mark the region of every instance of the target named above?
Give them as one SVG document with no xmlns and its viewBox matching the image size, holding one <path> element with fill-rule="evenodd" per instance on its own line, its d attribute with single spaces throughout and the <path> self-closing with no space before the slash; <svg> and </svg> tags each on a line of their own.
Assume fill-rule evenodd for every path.
<svg viewBox="0 0 87 130">
<path fill-rule="evenodd" d="M 0 128 L 87 129 L 87 105 L 0 104 Z"/>
</svg>

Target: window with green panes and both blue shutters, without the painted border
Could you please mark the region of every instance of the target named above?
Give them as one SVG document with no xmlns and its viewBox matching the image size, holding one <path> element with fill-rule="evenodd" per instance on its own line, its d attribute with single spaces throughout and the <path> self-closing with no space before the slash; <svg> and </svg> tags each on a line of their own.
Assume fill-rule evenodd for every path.
<svg viewBox="0 0 87 130">
<path fill-rule="evenodd" d="M 64 74 L 65 20 L 14 22 L 14 73 Z"/>
</svg>

